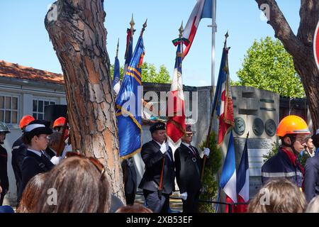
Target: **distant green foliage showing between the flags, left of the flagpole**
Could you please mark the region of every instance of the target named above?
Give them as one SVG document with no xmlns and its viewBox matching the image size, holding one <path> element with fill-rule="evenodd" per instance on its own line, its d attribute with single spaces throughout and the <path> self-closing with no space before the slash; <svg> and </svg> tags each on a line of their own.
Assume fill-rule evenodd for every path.
<svg viewBox="0 0 319 227">
<path fill-rule="evenodd" d="M 111 77 L 113 79 L 114 65 L 111 65 Z M 121 79 L 123 77 L 123 67 L 120 67 Z M 169 72 L 164 65 L 159 66 L 157 72 L 154 64 L 144 62 L 142 65 L 142 82 L 169 84 L 172 82 Z"/>
</svg>

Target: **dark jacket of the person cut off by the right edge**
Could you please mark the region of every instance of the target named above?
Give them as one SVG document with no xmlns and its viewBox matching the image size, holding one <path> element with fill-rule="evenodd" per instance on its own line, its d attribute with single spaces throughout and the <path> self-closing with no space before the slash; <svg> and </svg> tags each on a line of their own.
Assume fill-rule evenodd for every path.
<svg viewBox="0 0 319 227">
<path fill-rule="evenodd" d="M 319 194 L 319 156 L 310 157 L 306 162 L 304 187 L 308 202 Z"/>
</svg>

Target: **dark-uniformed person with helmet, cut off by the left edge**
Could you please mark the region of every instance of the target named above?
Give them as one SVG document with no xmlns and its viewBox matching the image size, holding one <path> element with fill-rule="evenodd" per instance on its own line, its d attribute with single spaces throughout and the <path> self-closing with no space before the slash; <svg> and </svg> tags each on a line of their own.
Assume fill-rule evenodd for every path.
<svg viewBox="0 0 319 227">
<path fill-rule="evenodd" d="M 2 187 L 2 192 L 0 194 L 0 206 L 2 206 L 4 196 L 9 190 L 9 178 L 7 170 L 8 153 L 6 153 L 6 149 L 1 146 L 1 144 L 4 144 L 7 133 L 10 133 L 8 126 L 6 126 L 5 123 L 0 122 L 0 186 Z"/>
</svg>

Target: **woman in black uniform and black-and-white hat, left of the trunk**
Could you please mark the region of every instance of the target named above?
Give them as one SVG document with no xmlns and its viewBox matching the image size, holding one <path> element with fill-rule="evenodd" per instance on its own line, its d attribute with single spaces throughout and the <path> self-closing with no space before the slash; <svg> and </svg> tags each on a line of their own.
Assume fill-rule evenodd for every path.
<svg viewBox="0 0 319 227">
<path fill-rule="evenodd" d="M 54 166 L 44 154 L 48 143 L 47 135 L 50 134 L 52 134 L 52 129 L 48 121 L 31 121 L 25 128 L 23 143 L 28 147 L 28 150 L 26 150 L 26 157 L 24 157 L 21 167 L 22 185 L 18 192 L 18 201 L 32 177 L 41 172 L 48 172 Z"/>
</svg>

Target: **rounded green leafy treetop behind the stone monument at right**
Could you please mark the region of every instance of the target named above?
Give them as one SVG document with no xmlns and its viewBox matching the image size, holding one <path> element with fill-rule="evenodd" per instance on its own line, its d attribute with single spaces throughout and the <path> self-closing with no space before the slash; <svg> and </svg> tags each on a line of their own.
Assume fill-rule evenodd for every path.
<svg viewBox="0 0 319 227">
<path fill-rule="evenodd" d="M 278 39 L 272 40 L 269 36 L 260 42 L 254 40 L 237 75 L 240 81 L 232 82 L 232 85 L 256 87 L 281 96 L 305 96 L 293 58 Z"/>
</svg>

